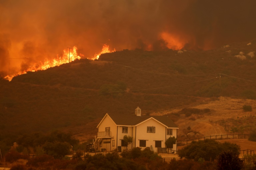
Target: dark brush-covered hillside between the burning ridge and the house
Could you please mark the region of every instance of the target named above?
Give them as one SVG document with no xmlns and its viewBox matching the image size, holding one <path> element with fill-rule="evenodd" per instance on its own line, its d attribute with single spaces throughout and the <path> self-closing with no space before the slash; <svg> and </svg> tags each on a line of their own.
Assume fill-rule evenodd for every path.
<svg viewBox="0 0 256 170">
<path fill-rule="evenodd" d="M 133 114 L 139 106 L 151 114 L 219 96 L 256 99 L 256 59 L 246 55 L 255 48 L 252 42 L 183 53 L 123 50 L 0 80 L 0 134 L 59 129 L 88 139 L 105 113 Z M 240 51 L 246 60 L 234 57 Z"/>
</svg>

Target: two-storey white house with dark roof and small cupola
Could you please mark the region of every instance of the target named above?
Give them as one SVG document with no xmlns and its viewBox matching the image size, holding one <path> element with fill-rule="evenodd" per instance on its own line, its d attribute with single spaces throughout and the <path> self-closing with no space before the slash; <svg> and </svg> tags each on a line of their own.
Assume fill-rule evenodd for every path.
<svg viewBox="0 0 256 170">
<path fill-rule="evenodd" d="M 166 147 L 165 141 L 169 137 L 177 138 L 178 130 L 177 125 L 169 117 L 141 115 L 139 107 L 132 115 L 107 113 L 97 128 L 95 149 L 119 152 L 125 149 L 124 135 L 133 137 L 133 142 L 127 149 L 151 147 L 152 150 L 157 151 L 158 147 Z M 173 150 L 177 150 L 176 144 L 173 145 Z"/>
</svg>

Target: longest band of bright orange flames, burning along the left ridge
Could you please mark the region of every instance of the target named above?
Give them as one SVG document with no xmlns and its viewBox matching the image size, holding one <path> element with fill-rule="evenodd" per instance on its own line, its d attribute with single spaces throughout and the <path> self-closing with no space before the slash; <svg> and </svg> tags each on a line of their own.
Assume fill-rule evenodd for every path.
<svg viewBox="0 0 256 170">
<path fill-rule="evenodd" d="M 28 71 L 38 71 L 38 70 L 46 70 L 47 68 L 50 67 L 54 67 L 54 66 L 59 66 L 61 64 L 64 63 L 68 63 L 69 61 L 74 61 L 75 59 L 81 59 L 81 57 L 79 55 L 77 55 L 77 47 L 74 46 L 72 49 L 70 49 L 70 53 L 69 53 L 69 49 L 64 49 L 64 54 L 62 57 L 58 56 L 56 58 L 54 58 L 53 60 L 48 60 L 47 58 L 45 58 L 44 63 L 37 64 L 34 63 L 32 66 L 29 66 L 29 68 L 27 70 L 23 70 L 18 72 L 17 74 L 13 74 L 13 75 L 7 75 L 4 77 L 4 79 L 11 81 L 13 77 L 21 75 L 21 74 L 26 74 Z M 70 57 L 69 57 L 70 55 Z"/>
</svg>

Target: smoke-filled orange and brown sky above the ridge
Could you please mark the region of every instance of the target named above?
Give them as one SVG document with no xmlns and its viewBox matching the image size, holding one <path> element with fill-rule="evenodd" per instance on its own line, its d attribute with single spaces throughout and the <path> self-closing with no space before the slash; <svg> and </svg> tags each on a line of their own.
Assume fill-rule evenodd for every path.
<svg viewBox="0 0 256 170">
<path fill-rule="evenodd" d="M 77 46 L 212 49 L 255 39 L 255 0 L 0 0 L 0 73 L 9 58 L 39 62 Z M 28 61 L 12 61 L 21 69 Z"/>
</svg>

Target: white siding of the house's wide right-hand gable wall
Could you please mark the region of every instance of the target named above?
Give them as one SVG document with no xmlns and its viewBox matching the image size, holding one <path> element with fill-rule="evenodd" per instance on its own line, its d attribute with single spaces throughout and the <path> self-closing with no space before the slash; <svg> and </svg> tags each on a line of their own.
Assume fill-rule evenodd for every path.
<svg viewBox="0 0 256 170">
<path fill-rule="evenodd" d="M 155 133 L 147 133 L 147 127 L 155 127 Z M 165 126 L 154 119 L 149 119 L 148 121 L 138 125 L 136 129 L 136 147 L 140 147 L 139 140 L 146 140 L 146 147 L 150 147 L 152 145 L 154 151 L 157 152 L 157 148 L 155 147 L 156 140 L 161 140 L 162 147 L 165 147 L 165 129 Z M 141 148 L 144 149 L 145 147 Z"/>
</svg>

